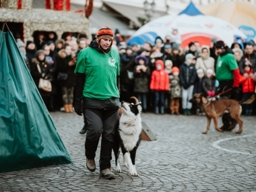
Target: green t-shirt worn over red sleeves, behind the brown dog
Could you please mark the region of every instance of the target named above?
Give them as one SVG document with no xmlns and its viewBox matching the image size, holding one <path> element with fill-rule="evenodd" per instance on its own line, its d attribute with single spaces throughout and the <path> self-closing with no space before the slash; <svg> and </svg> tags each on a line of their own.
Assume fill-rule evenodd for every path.
<svg viewBox="0 0 256 192">
<path fill-rule="evenodd" d="M 234 79 L 234 69 L 238 69 L 238 65 L 232 53 L 219 56 L 216 63 L 216 79 L 220 82 Z"/>
</svg>

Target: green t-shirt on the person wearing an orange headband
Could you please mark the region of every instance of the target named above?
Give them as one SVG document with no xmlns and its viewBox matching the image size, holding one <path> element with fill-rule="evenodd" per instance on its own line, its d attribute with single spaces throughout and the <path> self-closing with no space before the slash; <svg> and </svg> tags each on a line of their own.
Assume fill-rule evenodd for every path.
<svg viewBox="0 0 256 192">
<path fill-rule="evenodd" d="M 112 55 L 112 57 L 111 57 Z M 75 73 L 85 73 L 83 96 L 105 100 L 120 98 L 117 88 L 117 75 L 120 75 L 119 53 L 111 50 L 104 55 L 92 47 L 80 51 Z"/>
</svg>

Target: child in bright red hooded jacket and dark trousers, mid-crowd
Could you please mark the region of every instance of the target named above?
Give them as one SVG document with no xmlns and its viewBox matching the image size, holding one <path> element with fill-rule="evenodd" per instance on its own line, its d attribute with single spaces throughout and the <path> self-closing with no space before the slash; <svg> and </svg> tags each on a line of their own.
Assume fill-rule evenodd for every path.
<svg viewBox="0 0 256 192">
<path fill-rule="evenodd" d="M 164 71 L 164 61 L 158 59 L 155 63 L 155 66 L 156 70 L 154 70 L 152 73 L 150 90 L 154 91 L 155 113 L 159 113 L 160 106 L 160 113 L 164 114 L 164 96 L 165 92 L 169 90 L 169 76 L 168 73 Z"/>
</svg>

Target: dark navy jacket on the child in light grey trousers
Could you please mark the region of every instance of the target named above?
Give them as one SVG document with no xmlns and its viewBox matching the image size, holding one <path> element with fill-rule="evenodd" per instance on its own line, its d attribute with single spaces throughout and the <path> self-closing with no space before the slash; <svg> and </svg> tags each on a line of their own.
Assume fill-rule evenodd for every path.
<svg viewBox="0 0 256 192">
<path fill-rule="evenodd" d="M 197 71 L 195 69 L 195 65 L 187 65 L 186 63 L 183 63 L 180 67 L 179 77 L 181 86 L 183 86 L 183 88 L 187 89 L 189 86 L 194 85 L 195 80 L 197 79 Z"/>
</svg>

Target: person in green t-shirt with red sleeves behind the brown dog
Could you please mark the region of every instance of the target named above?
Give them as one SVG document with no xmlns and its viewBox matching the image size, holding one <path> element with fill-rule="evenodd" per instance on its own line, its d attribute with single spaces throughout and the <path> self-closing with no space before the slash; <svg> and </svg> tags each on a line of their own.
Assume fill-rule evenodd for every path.
<svg viewBox="0 0 256 192">
<path fill-rule="evenodd" d="M 241 90 L 239 86 L 240 72 L 232 50 L 219 40 L 215 44 L 218 60 L 216 63 L 216 79 L 220 82 L 218 95 L 221 98 L 230 98 L 234 100 L 241 99 Z M 232 131 L 237 122 L 230 117 L 230 113 L 224 113 L 222 116 L 223 131 Z"/>
</svg>

